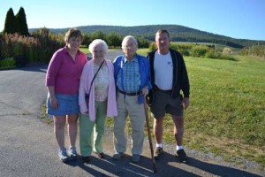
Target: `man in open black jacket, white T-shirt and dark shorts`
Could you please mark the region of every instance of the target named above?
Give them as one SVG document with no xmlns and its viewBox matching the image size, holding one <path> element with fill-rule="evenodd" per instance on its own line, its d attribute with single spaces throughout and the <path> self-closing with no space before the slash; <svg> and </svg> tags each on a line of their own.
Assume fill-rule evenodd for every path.
<svg viewBox="0 0 265 177">
<path fill-rule="evenodd" d="M 163 153 L 163 118 L 165 113 L 170 113 L 177 142 L 176 156 L 181 162 L 186 162 L 186 152 L 183 149 L 183 110 L 189 106 L 190 94 L 186 65 L 181 54 L 170 49 L 167 30 L 160 29 L 155 33 L 155 44 L 157 50 L 148 53 L 153 87 L 149 93 L 149 104 L 154 117 L 155 159 L 159 159 Z"/>
</svg>

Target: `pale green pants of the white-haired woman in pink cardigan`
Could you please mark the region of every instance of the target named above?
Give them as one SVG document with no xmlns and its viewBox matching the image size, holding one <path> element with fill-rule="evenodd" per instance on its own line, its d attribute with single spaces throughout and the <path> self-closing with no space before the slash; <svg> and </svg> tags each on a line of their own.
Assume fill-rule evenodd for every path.
<svg viewBox="0 0 265 177">
<path fill-rule="evenodd" d="M 95 102 L 95 121 L 91 121 L 87 114 L 80 114 L 79 145 L 83 157 L 90 156 L 92 150 L 102 152 L 102 138 L 105 131 L 107 102 Z"/>
</svg>

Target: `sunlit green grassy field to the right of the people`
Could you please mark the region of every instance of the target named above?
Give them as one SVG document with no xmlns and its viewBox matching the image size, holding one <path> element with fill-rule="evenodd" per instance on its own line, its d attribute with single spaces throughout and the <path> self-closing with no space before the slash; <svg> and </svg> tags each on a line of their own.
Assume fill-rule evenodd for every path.
<svg viewBox="0 0 265 177">
<path fill-rule="evenodd" d="M 137 52 L 146 56 L 148 50 Z M 185 58 L 191 85 L 185 146 L 238 164 L 242 158 L 254 160 L 264 167 L 265 61 L 234 57 L 236 61 Z M 164 142 L 173 142 L 169 116 L 164 127 Z"/>
</svg>

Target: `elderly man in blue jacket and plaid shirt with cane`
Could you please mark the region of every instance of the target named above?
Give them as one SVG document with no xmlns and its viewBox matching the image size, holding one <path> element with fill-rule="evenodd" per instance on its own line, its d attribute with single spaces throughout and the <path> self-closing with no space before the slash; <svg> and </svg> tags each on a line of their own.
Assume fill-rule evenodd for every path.
<svg viewBox="0 0 265 177">
<path fill-rule="evenodd" d="M 151 89 L 148 58 L 136 53 L 138 42 L 132 35 L 125 36 L 122 49 L 125 55 L 114 60 L 114 75 L 117 86 L 117 116 L 114 118 L 114 159 L 119 160 L 127 145 L 126 119 L 132 125 L 132 161 L 139 162 L 144 141 L 145 112 L 143 99 Z"/>
</svg>

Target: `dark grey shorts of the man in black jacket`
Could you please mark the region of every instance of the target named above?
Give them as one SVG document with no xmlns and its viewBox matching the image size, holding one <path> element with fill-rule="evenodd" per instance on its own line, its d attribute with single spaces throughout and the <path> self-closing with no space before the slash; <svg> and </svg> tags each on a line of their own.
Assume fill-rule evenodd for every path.
<svg viewBox="0 0 265 177">
<path fill-rule="evenodd" d="M 176 99 L 171 97 L 171 91 L 154 90 L 154 102 L 151 104 L 153 117 L 163 118 L 166 113 L 175 116 L 183 116 L 183 105 L 180 96 Z"/>
</svg>

